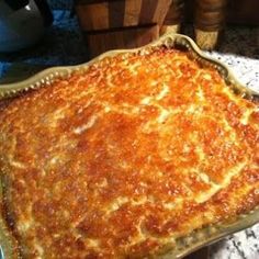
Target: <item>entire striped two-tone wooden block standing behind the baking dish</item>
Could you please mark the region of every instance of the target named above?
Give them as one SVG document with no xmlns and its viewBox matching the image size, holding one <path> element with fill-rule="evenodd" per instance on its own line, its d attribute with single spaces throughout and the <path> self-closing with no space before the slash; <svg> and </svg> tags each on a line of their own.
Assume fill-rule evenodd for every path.
<svg viewBox="0 0 259 259">
<path fill-rule="evenodd" d="M 139 47 L 159 37 L 172 0 L 76 0 L 75 10 L 91 57 Z"/>
</svg>

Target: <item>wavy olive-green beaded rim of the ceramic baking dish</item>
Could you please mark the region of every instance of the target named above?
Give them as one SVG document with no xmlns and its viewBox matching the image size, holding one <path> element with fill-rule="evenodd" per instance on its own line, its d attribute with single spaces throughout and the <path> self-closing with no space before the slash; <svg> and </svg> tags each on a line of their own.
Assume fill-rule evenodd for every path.
<svg viewBox="0 0 259 259">
<path fill-rule="evenodd" d="M 241 93 L 241 95 L 247 99 L 254 99 L 254 98 L 257 99 L 259 97 L 259 92 L 250 90 L 246 86 L 244 86 L 236 78 L 236 76 L 233 74 L 232 69 L 228 68 L 228 66 L 226 66 L 224 63 L 215 58 L 209 57 L 198 47 L 198 45 L 189 36 L 185 36 L 182 34 L 168 33 L 168 34 L 162 35 L 157 41 L 150 44 L 147 44 L 143 47 L 133 48 L 133 49 L 110 50 L 91 59 L 88 63 L 83 63 L 83 64 L 75 65 L 75 66 L 50 67 L 50 68 L 44 69 L 41 72 L 37 72 L 36 75 L 25 80 L 14 82 L 14 83 L 0 85 L 0 100 L 8 99 L 10 97 L 15 97 L 20 94 L 21 92 L 29 91 L 31 89 L 36 89 L 36 88 L 50 85 L 56 78 L 66 78 L 72 71 L 86 70 L 90 65 L 105 57 L 112 57 L 112 56 L 115 56 L 117 54 L 123 54 L 123 53 L 124 54 L 137 53 L 139 50 L 142 52 L 142 50 L 148 49 L 149 47 L 161 47 L 161 46 L 167 46 L 168 48 L 173 48 L 177 46 L 185 47 L 187 49 L 190 50 L 191 54 L 193 54 L 193 57 L 198 61 L 201 61 L 205 66 L 210 66 L 217 69 L 217 71 L 224 78 L 226 85 L 229 86 L 234 91 Z M 168 250 L 164 251 L 164 254 L 157 255 L 156 258 L 180 259 L 198 250 L 199 248 L 211 245 L 229 234 L 250 227 L 258 222 L 259 222 L 259 206 L 256 207 L 254 211 L 250 211 L 248 214 L 239 215 L 238 219 L 232 224 L 221 224 L 221 223 L 213 224 L 213 225 L 200 228 L 198 230 L 194 230 L 189 236 L 179 238 L 173 249 L 169 248 Z M 8 236 L 4 235 L 4 232 L 5 232 L 4 226 L 3 224 L 1 224 L 1 221 L 0 221 L 0 241 L 8 238 Z M 7 240 L 5 244 L 10 244 L 10 241 Z M 7 245 L 5 247 L 4 245 L 1 245 L 1 246 L 2 246 L 3 252 L 4 250 L 9 249 Z M 9 257 L 4 256 L 4 258 L 8 259 Z M 0 252 L 0 259 L 1 259 L 1 252 Z"/>
</svg>

